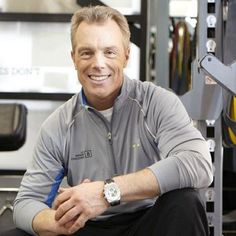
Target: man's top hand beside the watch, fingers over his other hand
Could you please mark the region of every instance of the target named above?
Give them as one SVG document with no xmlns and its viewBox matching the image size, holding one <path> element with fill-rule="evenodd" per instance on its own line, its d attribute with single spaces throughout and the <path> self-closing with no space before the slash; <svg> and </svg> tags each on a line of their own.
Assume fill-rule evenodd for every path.
<svg viewBox="0 0 236 236">
<path fill-rule="evenodd" d="M 109 207 L 103 196 L 103 186 L 102 181 L 84 181 L 75 187 L 61 188 L 54 202 L 58 224 L 72 234 L 84 227 L 87 220 L 101 215 Z"/>
</svg>

